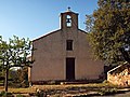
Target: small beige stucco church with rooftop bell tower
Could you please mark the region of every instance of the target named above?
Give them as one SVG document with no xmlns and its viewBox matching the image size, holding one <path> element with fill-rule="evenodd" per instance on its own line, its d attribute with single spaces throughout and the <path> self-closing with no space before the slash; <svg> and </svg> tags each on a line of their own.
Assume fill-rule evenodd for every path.
<svg viewBox="0 0 130 97">
<path fill-rule="evenodd" d="M 32 40 L 35 61 L 28 70 L 29 81 L 100 79 L 104 64 L 92 58 L 88 33 L 78 28 L 78 14 L 68 8 L 60 17 L 60 29 Z"/>
</svg>

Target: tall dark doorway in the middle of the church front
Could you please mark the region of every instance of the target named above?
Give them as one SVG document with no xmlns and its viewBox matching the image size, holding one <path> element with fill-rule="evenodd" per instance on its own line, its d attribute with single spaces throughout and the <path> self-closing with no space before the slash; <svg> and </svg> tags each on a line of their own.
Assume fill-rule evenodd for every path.
<svg viewBox="0 0 130 97">
<path fill-rule="evenodd" d="M 66 58 L 66 80 L 75 80 L 75 58 Z"/>
</svg>

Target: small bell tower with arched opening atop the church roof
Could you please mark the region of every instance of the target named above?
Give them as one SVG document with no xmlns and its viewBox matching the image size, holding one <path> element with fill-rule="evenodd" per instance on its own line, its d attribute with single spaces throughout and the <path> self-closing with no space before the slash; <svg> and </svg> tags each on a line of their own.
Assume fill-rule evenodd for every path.
<svg viewBox="0 0 130 97">
<path fill-rule="evenodd" d="M 66 12 L 61 13 L 61 29 L 75 28 L 78 29 L 78 14 L 70 11 L 70 8 Z"/>
</svg>

